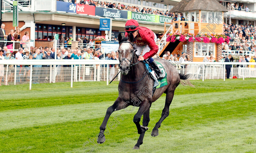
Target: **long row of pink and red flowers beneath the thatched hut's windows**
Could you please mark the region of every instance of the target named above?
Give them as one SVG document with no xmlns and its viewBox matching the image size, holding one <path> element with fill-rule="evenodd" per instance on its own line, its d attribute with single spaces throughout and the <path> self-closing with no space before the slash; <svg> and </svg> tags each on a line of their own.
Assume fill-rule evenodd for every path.
<svg viewBox="0 0 256 153">
<path fill-rule="evenodd" d="M 193 33 L 185 33 L 185 34 L 181 34 L 181 33 L 172 33 L 172 34 L 168 34 L 166 41 L 170 41 L 172 43 L 174 43 L 176 40 L 180 40 L 182 42 L 188 40 L 189 42 L 204 42 L 204 43 L 218 43 L 218 44 L 222 44 L 224 42 L 229 43 L 229 37 L 226 35 L 217 35 L 217 34 L 210 34 L 210 35 L 205 35 L 202 36 L 201 34 L 193 34 Z"/>
</svg>

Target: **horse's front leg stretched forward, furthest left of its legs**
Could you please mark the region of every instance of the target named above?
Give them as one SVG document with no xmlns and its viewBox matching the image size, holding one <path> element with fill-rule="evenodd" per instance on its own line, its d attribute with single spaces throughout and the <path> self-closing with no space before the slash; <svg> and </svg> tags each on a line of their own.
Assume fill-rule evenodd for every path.
<svg viewBox="0 0 256 153">
<path fill-rule="evenodd" d="M 110 117 L 110 115 L 116 111 L 116 110 L 121 110 L 124 108 L 125 102 L 121 99 L 121 98 L 117 98 L 116 101 L 114 102 L 114 104 L 110 107 L 108 107 L 106 115 L 104 117 L 104 120 L 100 126 L 100 133 L 98 135 L 98 140 L 97 142 L 102 144 L 103 142 L 105 142 L 105 135 L 104 135 L 104 131 L 106 130 L 106 125 L 108 123 L 108 119 Z M 127 105 L 128 106 L 128 105 Z M 125 107 L 127 107 L 125 106 Z"/>
</svg>

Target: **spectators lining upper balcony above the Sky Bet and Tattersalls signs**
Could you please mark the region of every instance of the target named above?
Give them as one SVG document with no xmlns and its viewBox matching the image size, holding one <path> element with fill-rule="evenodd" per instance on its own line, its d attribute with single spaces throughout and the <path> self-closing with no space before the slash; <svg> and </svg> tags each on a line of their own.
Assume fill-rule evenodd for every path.
<svg viewBox="0 0 256 153">
<path fill-rule="evenodd" d="M 65 0 L 59 0 L 59 1 L 65 1 Z M 127 10 L 127 11 L 133 11 L 133 12 L 141 12 L 141 13 L 148 13 L 148 14 L 155 14 L 155 15 L 163 15 L 163 16 L 170 16 L 173 17 L 173 12 L 163 12 L 162 10 L 152 10 L 151 8 L 143 8 L 140 10 L 140 7 L 138 6 L 131 6 L 131 5 L 123 5 L 121 3 L 112 3 L 112 2 L 99 2 L 99 1 L 93 1 L 93 0 L 66 0 L 66 2 L 74 3 L 74 4 L 85 4 L 85 5 L 93 5 L 98 7 L 104 7 L 104 8 L 111 8 L 111 9 L 119 9 L 119 10 Z"/>
</svg>

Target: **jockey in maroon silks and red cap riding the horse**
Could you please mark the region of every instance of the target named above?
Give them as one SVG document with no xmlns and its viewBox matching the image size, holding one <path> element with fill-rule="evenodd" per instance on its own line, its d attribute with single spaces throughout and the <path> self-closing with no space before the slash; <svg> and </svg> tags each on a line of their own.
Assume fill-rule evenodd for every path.
<svg viewBox="0 0 256 153">
<path fill-rule="evenodd" d="M 125 37 L 128 37 L 130 34 L 133 34 L 134 40 L 133 44 L 137 48 L 136 54 L 139 56 L 142 52 L 142 56 L 139 56 L 139 61 L 147 60 L 151 64 L 152 68 L 155 69 L 158 79 L 162 79 L 165 76 L 159 70 L 158 65 L 152 58 L 158 52 L 158 46 L 156 45 L 156 35 L 155 33 L 143 26 L 139 26 L 139 23 L 130 19 L 125 24 Z"/>
</svg>

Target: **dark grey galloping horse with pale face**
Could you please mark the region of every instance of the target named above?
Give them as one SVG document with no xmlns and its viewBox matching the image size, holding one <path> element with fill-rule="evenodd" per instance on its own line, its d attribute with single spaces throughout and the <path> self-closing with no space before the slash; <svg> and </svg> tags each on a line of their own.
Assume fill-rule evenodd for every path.
<svg viewBox="0 0 256 153">
<path fill-rule="evenodd" d="M 180 79 L 183 85 L 190 85 L 189 75 L 179 74 L 176 68 L 167 60 L 161 58 L 155 58 L 154 60 L 162 64 L 167 74 L 167 83 L 168 85 L 162 86 L 155 90 L 154 95 L 152 96 L 153 89 L 153 79 L 147 75 L 147 70 L 142 61 L 138 61 L 138 56 L 135 54 L 135 48 L 133 47 L 133 35 L 130 34 L 130 37 L 124 37 L 119 33 L 119 62 L 120 70 L 122 72 L 121 79 L 118 85 L 119 96 L 114 102 L 114 104 L 107 109 L 105 118 L 100 126 L 100 133 L 98 135 L 98 143 L 105 142 L 104 131 L 106 129 L 106 124 L 110 115 L 117 110 L 125 109 L 127 106 L 137 106 L 139 107 L 138 112 L 133 117 L 133 122 L 135 123 L 138 134 L 140 137 L 137 141 L 137 144 L 133 149 L 139 149 L 140 145 L 143 143 L 143 137 L 145 131 L 148 130 L 149 123 L 149 109 L 151 104 L 155 102 L 163 93 L 166 93 L 165 107 L 162 111 L 162 116 L 160 120 L 155 124 L 151 132 L 151 136 L 158 136 L 158 128 L 161 126 L 162 121 L 169 115 L 169 106 L 172 103 L 172 98 L 176 87 L 180 83 Z M 130 41 L 129 41 L 130 40 Z M 150 81 L 149 81 L 150 80 Z M 145 87 L 150 92 L 145 92 Z M 150 93 L 150 94 L 149 94 Z M 140 125 L 140 118 L 143 115 L 142 126 Z"/>
</svg>

